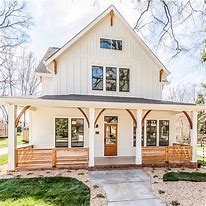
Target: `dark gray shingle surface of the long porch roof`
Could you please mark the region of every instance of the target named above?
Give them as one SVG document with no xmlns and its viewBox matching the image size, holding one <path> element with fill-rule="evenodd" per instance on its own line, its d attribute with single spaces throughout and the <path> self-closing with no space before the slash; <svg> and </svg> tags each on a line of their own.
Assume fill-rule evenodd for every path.
<svg viewBox="0 0 206 206">
<path fill-rule="evenodd" d="M 156 99 L 145 99 L 137 97 L 117 97 L 117 96 L 98 96 L 98 95 L 45 95 L 41 99 L 49 100 L 68 100 L 68 101 L 92 101 L 92 102 L 121 102 L 121 103 L 140 103 L 140 104 L 172 104 L 172 105 L 195 105 L 193 103 L 172 102 Z"/>
</svg>

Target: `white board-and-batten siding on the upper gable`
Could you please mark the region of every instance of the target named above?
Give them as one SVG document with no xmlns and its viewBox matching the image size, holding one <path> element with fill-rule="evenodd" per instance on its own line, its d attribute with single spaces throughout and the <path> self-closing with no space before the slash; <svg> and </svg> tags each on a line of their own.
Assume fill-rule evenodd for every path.
<svg viewBox="0 0 206 206">
<path fill-rule="evenodd" d="M 100 38 L 122 40 L 122 51 L 101 49 Z M 50 79 L 43 78 L 43 94 L 95 94 L 161 99 L 161 68 L 117 17 L 114 17 L 113 26 L 110 26 L 110 16 L 105 16 L 56 61 L 57 74 Z M 92 65 L 129 68 L 130 91 L 93 91 Z"/>
</svg>

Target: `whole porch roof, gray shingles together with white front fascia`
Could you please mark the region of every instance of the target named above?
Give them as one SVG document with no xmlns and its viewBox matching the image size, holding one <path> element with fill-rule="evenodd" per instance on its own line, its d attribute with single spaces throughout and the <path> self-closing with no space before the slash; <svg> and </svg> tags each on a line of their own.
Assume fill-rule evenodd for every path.
<svg viewBox="0 0 206 206">
<path fill-rule="evenodd" d="M 155 99 L 97 95 L 45 95 L 42 97 L 0 97 L 0 104 L 16 104 L 31 107 L 72 107 L 72 108 L 110 108 L 110 109 L 143 109 L 170 111 L 206 110 L 205 105 L 181 103 Z"/>
</svg>

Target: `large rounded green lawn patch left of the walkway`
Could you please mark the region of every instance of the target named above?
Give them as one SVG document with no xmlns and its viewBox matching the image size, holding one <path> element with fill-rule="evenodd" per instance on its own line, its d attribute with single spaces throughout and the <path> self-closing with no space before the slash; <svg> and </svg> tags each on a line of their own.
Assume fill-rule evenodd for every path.
<svg viewBox="0 0 206 206">
<path fill-rule="evenodd" d="M 0 180 L 1 206 L 89 206 L 90 189 L 70 177 Z"/>
</svg>

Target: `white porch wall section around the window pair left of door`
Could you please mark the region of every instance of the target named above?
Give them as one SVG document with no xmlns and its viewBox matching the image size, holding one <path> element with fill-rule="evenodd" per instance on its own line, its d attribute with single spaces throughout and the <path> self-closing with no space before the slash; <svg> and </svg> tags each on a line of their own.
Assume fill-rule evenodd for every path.
<svg viewBox="0 0 206 206">
<path fill-rule="evenodd" d="M 85 110 L 85 113 L 86 110 Z M 69 147 L 71 145 L 71 118 L 84 118 L 78 109 L 37 107 L 32 114 L 32 142 L 37 148 L 55 147 L 55 118 L 69 119 Z M 88 125 L 84 118 L 84 146 L 88 147 Z"/>
</svg>

